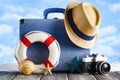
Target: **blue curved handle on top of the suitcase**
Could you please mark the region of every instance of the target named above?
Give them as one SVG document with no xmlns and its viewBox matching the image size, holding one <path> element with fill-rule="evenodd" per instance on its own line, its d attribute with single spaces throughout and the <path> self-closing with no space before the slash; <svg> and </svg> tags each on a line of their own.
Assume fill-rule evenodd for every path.
<svg viewBox="0 0 120 80">
<path fill-rule="evenodd" d="M 47 16 L 49 13 L 63 13 L 64 14 L 65 9 L 63 8 L 48 8 L 44 10 L 44 19 L 47 19 Z"/>
</svg>

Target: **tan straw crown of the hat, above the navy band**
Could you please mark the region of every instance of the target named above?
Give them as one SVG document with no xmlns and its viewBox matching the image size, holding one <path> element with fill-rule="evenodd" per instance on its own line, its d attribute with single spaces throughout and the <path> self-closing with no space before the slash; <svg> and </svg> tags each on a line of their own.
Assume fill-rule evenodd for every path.
<svg viewBox="0 0 120 80">
<path fill-rule="evenodd" d="M 77 28 L 88 36 L 94 36 L 100 24 L 100 14 L 90 3 L 83 2 L 72 8 L 72 17 Z"/>
</svg>

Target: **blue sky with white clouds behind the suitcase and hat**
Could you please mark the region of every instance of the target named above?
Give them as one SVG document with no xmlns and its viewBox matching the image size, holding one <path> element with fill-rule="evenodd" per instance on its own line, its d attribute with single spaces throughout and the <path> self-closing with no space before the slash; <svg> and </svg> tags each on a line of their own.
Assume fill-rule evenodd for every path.
<svg viewBox="0 0 120 80">
<path fill-rule="evenodd" d="M 91 53 L 108 56 L 111 63 L 120 63 L 120 0 L 1 0 L 0 1 L 0 64 L 16 63 L 14 50 L 19 41 L 19 19 L 43 18 L 46 8 L 65 8 L 68 2 L 90 2 L 101 13 L 99 39 Z M 63 18 L 63 14 L 48 17 Z"/>
</svg>

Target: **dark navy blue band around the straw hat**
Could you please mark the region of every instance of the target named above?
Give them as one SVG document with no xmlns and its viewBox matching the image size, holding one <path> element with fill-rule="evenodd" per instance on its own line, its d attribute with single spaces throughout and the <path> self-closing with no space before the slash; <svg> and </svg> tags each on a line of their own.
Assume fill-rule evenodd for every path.
<svg viewBox="0 0 120 80">
<path fill-rule="evenodd" d="M 89 40 L 92 40 L 92 39 L 95 37 L 95 36 L 88 36 L 88 35 L 84 34 L 83 32 L 81 32 L 81 31 L 77 28 L 76 24 L 75 24 L 74 21 L 73 21 L 72 9 L 68 10 L 68 22 L 69 22 L 72 30 L 73 30 L 79 37 L 81 37 L 82 39 L 89 41 Z"/>
</svg>

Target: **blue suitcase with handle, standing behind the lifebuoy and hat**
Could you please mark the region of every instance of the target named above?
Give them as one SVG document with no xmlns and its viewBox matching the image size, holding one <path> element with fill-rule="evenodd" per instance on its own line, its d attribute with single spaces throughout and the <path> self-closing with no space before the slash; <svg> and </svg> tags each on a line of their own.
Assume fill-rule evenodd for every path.
<svg viewBox="0 0 120 80">
<path fill-rule="evenodd" d="M 21 19 L 20 20 L 20 38 L 30 31 L 44 31 L 53 35 L 60 44 L 61 55 L 59 64 L 53 71 L 70 72 L 70 65 L 67 62 L 72 61 L 76 56 L 82 59 L 85 54 L 90 54 L 89 49 L 83 49 L 74 45 L 68 38 L 64 27 L 63 19 L 47 19 L 48 13 L 61 12 L 61 8 L 49 8 L 44 11 L 45 19 Z M 48 48 L 40 42 L 31 44 L 27 49 L 27 57 L 35 64 L 41 64 L 49 56 Z"/>
</svg>

